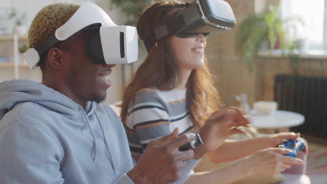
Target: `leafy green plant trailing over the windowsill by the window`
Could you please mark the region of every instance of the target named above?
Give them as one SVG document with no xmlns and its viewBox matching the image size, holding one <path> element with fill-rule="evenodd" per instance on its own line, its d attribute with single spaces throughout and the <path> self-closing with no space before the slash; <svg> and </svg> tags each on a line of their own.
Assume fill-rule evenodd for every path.
<svg viewBox="0 0 327 184">
<path fill-rule="evenodd" d="M 236 31 L 235 48 L 249 71 L 253 70 L 259 49 L 292 49 L 299 22 L 303 24 L 298 17 L 284 19 L 279 6 L 273 5 L 268 7 L 267 13 L 246 17 Z M 293 33 L 289 39 L 285 38 L 286 31 Z"/>
</svg>

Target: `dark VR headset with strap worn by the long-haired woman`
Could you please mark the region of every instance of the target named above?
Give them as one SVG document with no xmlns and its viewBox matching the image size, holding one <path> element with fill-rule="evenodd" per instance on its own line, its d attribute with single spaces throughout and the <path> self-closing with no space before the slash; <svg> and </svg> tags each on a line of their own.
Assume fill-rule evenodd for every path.
<svg viewBox="0 0 327 184">
<path fill-rule="evenodd" d="M 144 41 L 149 50 L 154 43 L 174 34 L 180 38 L 221 33 L 235 26 L 235 15 L 231 6 L 223 0 L 194 0 L 168 17 Z"/>
</svg>

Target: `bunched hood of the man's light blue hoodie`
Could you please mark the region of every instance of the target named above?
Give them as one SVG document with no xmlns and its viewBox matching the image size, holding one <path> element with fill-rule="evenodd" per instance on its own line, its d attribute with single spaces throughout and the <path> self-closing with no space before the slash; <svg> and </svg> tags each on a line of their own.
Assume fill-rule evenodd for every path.
<svg viewBox="0 0 327 184">
<path fill-rule="evenodd" d="M 0 82 L 0 99 L 0 120 L 15 105 L 24 102 L 35 102 L 68 118 L 78 118 L 79 109 L 82 108 L 66 95 L 41 83 L 24 79 Z M 87 116 L 92 114 L 95 108 L 96 102 L 87 102 L 84 108 Z"/>
</svg>

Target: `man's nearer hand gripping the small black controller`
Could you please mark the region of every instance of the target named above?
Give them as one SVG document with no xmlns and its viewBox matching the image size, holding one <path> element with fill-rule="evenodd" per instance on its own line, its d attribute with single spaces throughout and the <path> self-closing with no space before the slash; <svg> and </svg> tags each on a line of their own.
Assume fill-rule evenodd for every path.
<svg viewBox="0 0 327 184">
<path fill-rule="evenodd" d="M 180 178 L 186 160 L 194 157 L 191 150 L 178 151 L 183 144 L 195 139 L 194 134 L 178 136 L 178 129 L 149 142 L 136 166 L 127 174 L 134 183 L 173 183 Z"/>
</svg>

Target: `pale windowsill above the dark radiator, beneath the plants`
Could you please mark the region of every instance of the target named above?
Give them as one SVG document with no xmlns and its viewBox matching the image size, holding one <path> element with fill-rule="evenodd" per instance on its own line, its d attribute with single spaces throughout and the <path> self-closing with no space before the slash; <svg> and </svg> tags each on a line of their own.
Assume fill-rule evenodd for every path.
<svg viewBox="0 0 327 184">
<path fill-rule="evenodd" d="M 259 51 L 259 57 L 272 57 L 272 58 L 283 58 L 286 57 L 287 51 L 284 54 L 281 49 L 273 50 L 262 50 Z M 327 59 L 327 50 L 308 50 L 307 52 L 300 52 L 300 58 L 303 59 Z"/>
</svg>

